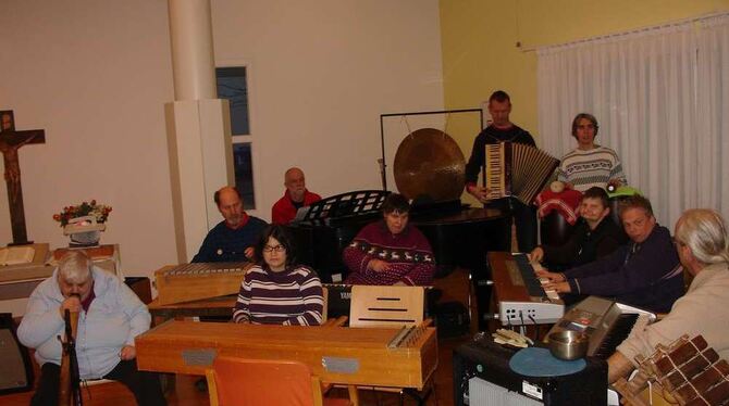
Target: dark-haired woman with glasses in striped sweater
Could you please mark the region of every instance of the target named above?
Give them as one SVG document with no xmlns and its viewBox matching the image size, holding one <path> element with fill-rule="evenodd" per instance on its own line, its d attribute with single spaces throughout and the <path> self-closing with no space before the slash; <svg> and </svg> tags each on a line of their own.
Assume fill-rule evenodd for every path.
<svg viewBox="0 0 729 406">
<path fill-rule="evenodd" d="M 311 268 L 294 265 L 292 239 L 279 225 L 265 228 L 255 246 L 259 264 L 240 284 L 233 321 L 254 325 L 319 326 L 321 281 Z"/>
</svg>

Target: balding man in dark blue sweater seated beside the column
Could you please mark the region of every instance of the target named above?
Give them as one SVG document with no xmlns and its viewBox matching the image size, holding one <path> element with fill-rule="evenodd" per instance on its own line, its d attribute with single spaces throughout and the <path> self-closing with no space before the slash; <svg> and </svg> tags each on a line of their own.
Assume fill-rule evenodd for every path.
<svg viewBox="0 0 729 406">
<path fill-rule="evenodd" d="M 243 200 L 236 188 L 224 187 L 215 192 L 213 199 L 225 219 L 208 232 L 193 262 L 226 263 L 251 259 L 254 245 L 268 224 L 244 212 Z"/>
</svg>

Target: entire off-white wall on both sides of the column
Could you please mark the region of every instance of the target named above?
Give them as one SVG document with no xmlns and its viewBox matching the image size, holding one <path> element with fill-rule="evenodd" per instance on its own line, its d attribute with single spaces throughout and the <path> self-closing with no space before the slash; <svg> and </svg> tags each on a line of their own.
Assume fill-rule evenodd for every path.
<svg viewBox="0 0 729 406">
<path fill-rule="evenodd" d="M 111 204 L 102 242 L 126 275 L 173 263 L 164 129 L 165 0 L 3 0 L 0 110 L 45 128 L 21 150 L 28 237 L 67 243 L 53 213 Z M 436 0 L 212 0 L 218 64 L 250 63 L 258 207 L 291 165 L 323 194 L 379 188 L 379 115 L 443 106 Z M 0 182 L 0 243 L 11 241 Z"/>
</svg>

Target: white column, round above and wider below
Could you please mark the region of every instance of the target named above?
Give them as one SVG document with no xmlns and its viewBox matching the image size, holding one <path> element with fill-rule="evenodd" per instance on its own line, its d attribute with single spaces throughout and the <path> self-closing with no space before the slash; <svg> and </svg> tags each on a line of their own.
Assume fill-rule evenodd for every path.
<svg viewBox="0 0 729 406">
<path fill-rule="evenodd" d="M 165 105 L 177 261 L 222 218 L 212 196 L 234 185 L 227 100 L 218 99 L 209 0 L 168 0 L 175 101 Z"/>
</svg>

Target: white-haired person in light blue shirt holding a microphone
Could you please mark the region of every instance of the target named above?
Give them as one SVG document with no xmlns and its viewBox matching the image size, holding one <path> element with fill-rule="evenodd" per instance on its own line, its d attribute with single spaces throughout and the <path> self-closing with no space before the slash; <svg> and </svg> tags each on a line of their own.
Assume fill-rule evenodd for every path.
<svg viewBox="0 0 729 406">
<path fill-rule="evenodd" d="M 81 379 L 124 383 L 139 405 L 166 405 L 158 376 L 137 370 L 134 338 L 149 330 L 147 306 L 116 276 L 71 251 L 53 275 L 30 295 L 17 329 L 20 341 L 36 350 L 40 381 L 30 405 L 58 403 L 65 310 L 78 312 L 76 356 Z"/>
</svg>

